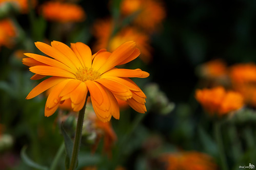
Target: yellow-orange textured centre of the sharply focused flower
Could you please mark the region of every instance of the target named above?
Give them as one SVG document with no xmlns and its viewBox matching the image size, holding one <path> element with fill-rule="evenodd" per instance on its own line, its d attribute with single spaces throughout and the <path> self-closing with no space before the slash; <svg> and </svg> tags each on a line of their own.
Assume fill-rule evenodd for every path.
<svg viewBox="0 0 256 170">
<path fill-rule="evenodd" d="M 87 80 L 96 80 L 101 77 L 100 72 L 93 70 L 93 68 L 78 68 L 75 77 L 77 80 L 81 80 L 83 82 Z"/>
</svg>

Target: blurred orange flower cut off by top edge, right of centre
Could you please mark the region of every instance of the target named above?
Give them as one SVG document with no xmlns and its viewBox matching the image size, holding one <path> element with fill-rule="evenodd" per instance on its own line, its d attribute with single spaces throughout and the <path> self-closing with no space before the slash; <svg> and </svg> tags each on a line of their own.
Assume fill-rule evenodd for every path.
<svg viewBox="0 0 256 170">
<path fill-rule="evenodd" d="M 162 1 L 157 0 L 124 0 L 121 3 L 121 13 L 124 16 L 137 12 L 134 23 L 145 30 L 154 31 L 165 18 Z"/>
</svg>

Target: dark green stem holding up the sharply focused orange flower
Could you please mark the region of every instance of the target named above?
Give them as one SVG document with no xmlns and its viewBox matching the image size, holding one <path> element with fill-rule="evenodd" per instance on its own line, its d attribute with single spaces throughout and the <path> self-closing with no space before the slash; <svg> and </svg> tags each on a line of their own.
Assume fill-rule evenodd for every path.
<svg viewBox="0 0 256 170">
<path fill-rule="evenodd" d="M 89 92 L 87 93 L 84 107 L 78 113 L 77 124 L 76 124 L 76 129 L 75 129 L 74 145 L 73 145 L 69 170 L 74 170 L 77 166 L 77 163 L 78 163 L 77 158 L 78 158 L 78 153 L 79 153 L 79 150 L 80 150 L 83 123 L 84 123 L 84 116 L 85 116 L 85 108 L 86 108 L 86 103 L 87 103 L 88 96 L 89 96 Z"/>
</svg>

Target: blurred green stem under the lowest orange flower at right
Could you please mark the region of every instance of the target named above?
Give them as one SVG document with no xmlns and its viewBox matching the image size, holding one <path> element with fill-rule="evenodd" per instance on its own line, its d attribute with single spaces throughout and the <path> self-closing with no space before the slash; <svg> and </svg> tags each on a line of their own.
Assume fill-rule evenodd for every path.
<svg viewBox="0 0 256 170">
<path fill-rule="evenodd" d="M 220 122 L 218 120 L 216 120 L 216 122 L 214 123 L 214 136 L 215 136 L 215 140 L 218 144 L 218 151 L 219 151 L 221 167 L 222 167 L 221 169 L 227 170 L 228 165 L 227 165 L 227 159 L 225 156 L 224 145 L 223 145 L 223 140 L 222 140 L 221 124 L 222 124 L 222 122 Z"/>
</svg>

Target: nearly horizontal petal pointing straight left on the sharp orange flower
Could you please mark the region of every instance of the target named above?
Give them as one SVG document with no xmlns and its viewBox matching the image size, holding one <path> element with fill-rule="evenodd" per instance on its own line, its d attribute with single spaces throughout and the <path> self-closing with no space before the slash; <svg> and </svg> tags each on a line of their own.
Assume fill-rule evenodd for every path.
<svg viewBox="0 0 256 170">
<path fill-rule="evenodd" d="M 45 76 L 58 76 L 58 77 L 67 77 L 75 79 L 75 75 L 69 71 L 66 71 L 61 68 L 46 66 L 46 65 L 36 65 L 30 67 L 29 70 L 34 72 L 38 75 L 45 75 Z"/>
</svg>

